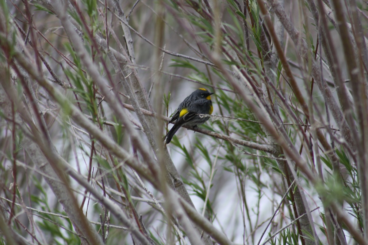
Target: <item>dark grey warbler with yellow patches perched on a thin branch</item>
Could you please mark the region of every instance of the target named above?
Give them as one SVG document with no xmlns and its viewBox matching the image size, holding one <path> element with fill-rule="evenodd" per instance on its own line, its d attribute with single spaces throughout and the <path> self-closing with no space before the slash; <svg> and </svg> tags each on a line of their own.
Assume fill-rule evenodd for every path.
<svg viewBox="0 0 368 245">
<path fill-rule="evenodd" d="M 197 89 L 180 103 L 175 114 L 169 123 L 174 122 L 174 126 L 166 134 L 166 144 L 169 144 L 176 131 L 181 126 L 198 126 L 208 120 L 208 117 L 201 118 L 198 114 L 212 114 L 213 106 L 211 94 L 206 89 Z"/>
</svg>

